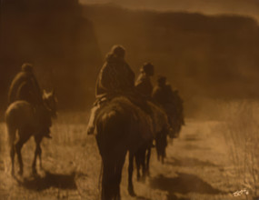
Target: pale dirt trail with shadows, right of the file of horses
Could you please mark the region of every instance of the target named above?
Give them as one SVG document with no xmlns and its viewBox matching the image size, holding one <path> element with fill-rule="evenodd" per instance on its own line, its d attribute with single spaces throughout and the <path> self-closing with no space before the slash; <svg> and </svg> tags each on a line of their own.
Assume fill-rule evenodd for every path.
<svg viewBox="0 0 259 200">
<path fill-rule="evenodd" d="M 145 185 L 135 184 L 136 193 L 145 199 L 239 199 L 229 187 L 228 155 L 218 125 L 188 120 L 180 137 L 169 142 L 164 165 L 156 161 L 153 150 L 151 177 Z"/>
</svg>

